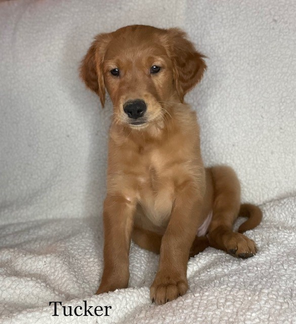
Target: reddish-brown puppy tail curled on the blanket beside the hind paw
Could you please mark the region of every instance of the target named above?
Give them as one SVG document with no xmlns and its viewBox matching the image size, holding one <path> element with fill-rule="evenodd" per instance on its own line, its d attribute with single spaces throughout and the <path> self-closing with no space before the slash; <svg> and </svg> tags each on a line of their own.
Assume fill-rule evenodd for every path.
<svg viewBox="0 0 296 324">
<path fill-rule="evenodd" d="M 240 205 L 238 216 L 247 217 L 248 219 L 242 223 L 238 232 L 243 233 L 249 229 L 258 226 L 262 220 L 262 211 L 259 207 L 251 204 Z"/>
</svg>

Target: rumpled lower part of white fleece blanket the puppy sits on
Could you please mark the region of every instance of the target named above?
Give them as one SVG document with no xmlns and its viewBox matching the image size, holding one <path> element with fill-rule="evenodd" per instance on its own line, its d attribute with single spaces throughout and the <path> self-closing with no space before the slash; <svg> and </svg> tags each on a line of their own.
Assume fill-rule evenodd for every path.
<svg viewBox="0 0 296 324">
<path fill-rule="evenodd" d="M 94 296 L 103 236 L 96 218 L 4 225 L 0 231 L 1 323 L 293 323 L 296 320 L 296 197 L 263 205 L 247 235 L 255 257 L 207 248 L 188 263 L 189 291 L 164 306 L 149 299 L 158 256 L 132 244 L 128 289 Z M 12 239 L 12 237 L 14 239 Z M 60 305 L 111 306 L 109 316 L 63 316 Z M 69 312 L 69 309 L 66 309 Z"/>
</svg>

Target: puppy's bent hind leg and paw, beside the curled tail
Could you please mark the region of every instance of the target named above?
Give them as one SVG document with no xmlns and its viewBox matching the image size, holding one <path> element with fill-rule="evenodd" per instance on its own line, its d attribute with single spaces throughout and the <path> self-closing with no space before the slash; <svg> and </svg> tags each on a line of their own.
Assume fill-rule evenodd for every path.
<svg viewBox="0 0 296 324">
<path fill-rule="evenodd" d="M 256 254 L 255 242 L 245 235 L 233 232 L 233 224 L 240 212 L 240 185 L 235 172 L 230 167 L 218 166 L 210 169 L 214 186 L 213 220 L 209 226 L 208 240 L 213 248 L 220 249 L 240 258 L 249 258 Z M 243 216 L 246 215 L 245 206 L 252 206 L 250 212 L 259 211 L 253 205 L 242 205 Z M 259 215 L 260 214 L 260 215 Z M 244 224 L 258 225 L 260 219 L 254 221 L 255 217 Z M 259 221 L 259 222 L 258 222 Z M 253 226 L 253 227 L 255 227 Z M 243 230 L 252 228 L 251 226 L 241 226 Z M 242 232 L 242 230 L 240 231 Z"/>
</svg>

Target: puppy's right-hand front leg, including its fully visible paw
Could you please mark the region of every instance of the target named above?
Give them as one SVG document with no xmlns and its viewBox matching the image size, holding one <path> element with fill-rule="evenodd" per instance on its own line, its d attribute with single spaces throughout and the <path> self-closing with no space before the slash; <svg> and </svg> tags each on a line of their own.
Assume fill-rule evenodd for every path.
<svg viewBox="0 0 296 324">
<path fill-rule="evenodd" d="M 162 237 L 158 271 L 150 288 L 150 298 L 164 304 L 188 289 L 189 251 L 200 222 L 202 195 L 193 183 L 176 193 L 170 222 Z"/>
</svg>

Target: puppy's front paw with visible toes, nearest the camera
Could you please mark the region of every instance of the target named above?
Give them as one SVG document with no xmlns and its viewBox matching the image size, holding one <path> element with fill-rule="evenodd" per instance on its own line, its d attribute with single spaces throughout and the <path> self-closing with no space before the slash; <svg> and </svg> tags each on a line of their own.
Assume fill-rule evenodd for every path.
<svg viewBox="0 0 296 324">
<path fill-rule="evenodd" d="M 172 276 L 158 272 L 150 288 L 152 303 L 163 305 L 179 296 L 184 295 L 188 290 L 187 278 Z"/>
</svg>

